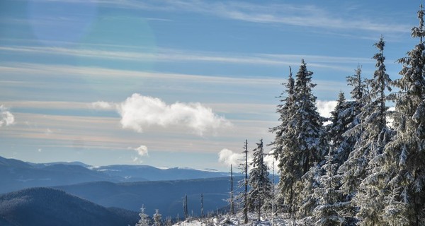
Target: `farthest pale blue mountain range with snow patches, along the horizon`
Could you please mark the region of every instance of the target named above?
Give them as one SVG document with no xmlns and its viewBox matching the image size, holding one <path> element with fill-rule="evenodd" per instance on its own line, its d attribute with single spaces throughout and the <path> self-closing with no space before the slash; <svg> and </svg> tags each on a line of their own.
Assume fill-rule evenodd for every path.
<svg viewBox="0 0 425 226">
<path fill-rule="evenodd" d="M 0 194 L 36 186 L 84 182 L 143 182 L 227 176 L 227 172 L 217 172 L 213 169 L 159 169 L 147 165 L 92 167 L 83 162 L 32 163 L 0 157 Z"/>
</svg>

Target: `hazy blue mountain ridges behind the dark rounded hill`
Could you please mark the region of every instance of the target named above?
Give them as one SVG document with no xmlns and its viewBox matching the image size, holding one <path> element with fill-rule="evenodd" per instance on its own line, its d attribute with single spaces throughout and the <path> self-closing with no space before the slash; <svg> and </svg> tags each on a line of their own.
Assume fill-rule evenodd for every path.
<svg viewBox="0 0 425 226">
<path fill-rule="evenodd" d="M 236 181 L 242 179 L 240 176 L 234 174 L 234 189 Z M 164 217 L 172 218 L 183 217 L 186 195 L 189 214 L 198 216 L 201 194 L 203 213 L 207 214 L 227 206 L 230 191 L 227 172 L 178 167 L 159 169 L 146 165 L 93 167 L 82 162 L 40 164 L 0 157 L 0 178 L 0 194 L 4 196 L 21 189 L 49 187 L 106 208 L 138 212 L 143 205 L 148 215 L 159 209 Z"/>
</svg>

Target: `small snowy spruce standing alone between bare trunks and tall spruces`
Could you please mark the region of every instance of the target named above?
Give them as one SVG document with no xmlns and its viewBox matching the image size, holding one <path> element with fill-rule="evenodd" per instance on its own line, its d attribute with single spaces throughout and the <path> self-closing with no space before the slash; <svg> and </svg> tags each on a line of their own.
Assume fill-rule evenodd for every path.
<svg viewBox="0 0 425 226">
<path fill-rule="evenodd" d="M 249 209 L 258 213 L 258 220 L 261 218 L 261 209 L 267 200 L 271 199 L 271 181 L 268 178 L 268 167 L 264 162 L 263 139 L 256 144 L 253 150 L 254 158 L 251 162 L 249 172 Z"/>
</svg>

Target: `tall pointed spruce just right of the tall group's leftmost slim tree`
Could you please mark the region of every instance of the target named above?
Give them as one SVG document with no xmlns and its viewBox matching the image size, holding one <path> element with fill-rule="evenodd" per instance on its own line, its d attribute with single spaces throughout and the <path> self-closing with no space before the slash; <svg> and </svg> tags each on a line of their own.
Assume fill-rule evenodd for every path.
<svg viewBox="0 0 425 226">
<path fill-rule="evenodd" d="M 312 88 L 316 85 L 311 83 L 312 74 L 311 71 L 307 71 L 305 62 L 302 60 L 295 80 L 295 116 L 291 121 L 293 124 L 293 129 L 290 131 L 292 139 L 288 144 L 288 151 L 295 155 L 295 161 L 298 162 L 295 170 L 303 175 L 295 191 L 295 194 L 300 194 L 297 197 L 297 205 L 302 207 L 298 211 L 300 216 L 312 213 L 314 205 L 308 204 L 312 190 L 307 188 L 314 185 L 312 182 L 316 179 L 315 167 L 317 164 L 322 164 L 324 155 L 327 153 L 322 126 L 324 118 L 317 112 L 315 105 L 317 97 L 312 94 Z"/>
</svg>

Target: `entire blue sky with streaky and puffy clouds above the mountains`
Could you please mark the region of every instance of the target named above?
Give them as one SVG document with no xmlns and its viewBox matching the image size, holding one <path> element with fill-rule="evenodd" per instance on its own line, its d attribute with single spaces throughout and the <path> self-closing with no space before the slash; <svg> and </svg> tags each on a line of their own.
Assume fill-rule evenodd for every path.
<svg viewBox="0 0 425 226">
<path fill-rule="evenodd" d="M 419 4 L 2 0 L 0 156 L 229 171 L 273 141 L 289 66 L 305 59 L 325 117 L 381 35 L 399 78 Z"/>
</svg>

